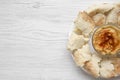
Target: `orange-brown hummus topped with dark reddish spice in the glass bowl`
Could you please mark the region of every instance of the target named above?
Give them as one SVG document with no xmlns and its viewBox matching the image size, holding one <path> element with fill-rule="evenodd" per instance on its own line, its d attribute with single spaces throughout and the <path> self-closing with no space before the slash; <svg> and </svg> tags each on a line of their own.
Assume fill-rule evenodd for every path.
<svg viewBox="0 0 120 80">
<path fill-rule="evenodd" d="M 114 55 L 120 49 L 120 31 L 112 25 L 96 29 L 92 40 L 94 49 L 101 55 Z"/>
</svg>

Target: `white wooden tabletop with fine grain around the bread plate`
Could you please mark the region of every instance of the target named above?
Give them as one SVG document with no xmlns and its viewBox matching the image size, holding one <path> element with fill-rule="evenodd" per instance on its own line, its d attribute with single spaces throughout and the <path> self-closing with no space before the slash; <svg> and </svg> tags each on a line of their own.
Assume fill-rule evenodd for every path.
<svg viewBox="0 0 120 80">
<path fill-rule="evenodd" d="M 96 80 L 75 66 L 68 33 L 80 10 L 115 1 L 0 0 L 0 80 Z"/>
</svg>

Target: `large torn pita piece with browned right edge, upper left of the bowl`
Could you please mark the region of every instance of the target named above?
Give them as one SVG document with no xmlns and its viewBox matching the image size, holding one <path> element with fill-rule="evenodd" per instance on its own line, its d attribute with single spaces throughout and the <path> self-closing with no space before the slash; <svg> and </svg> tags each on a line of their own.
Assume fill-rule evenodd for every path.
<svg viewBox="0 0 120 80">
<path fill-rule="evenodd" d="M 82 31 L 84 36 L 88 37 L 95 23 L 86 12 L 80 12 L 75 20 L 75 26 Z"/>
</svg>

